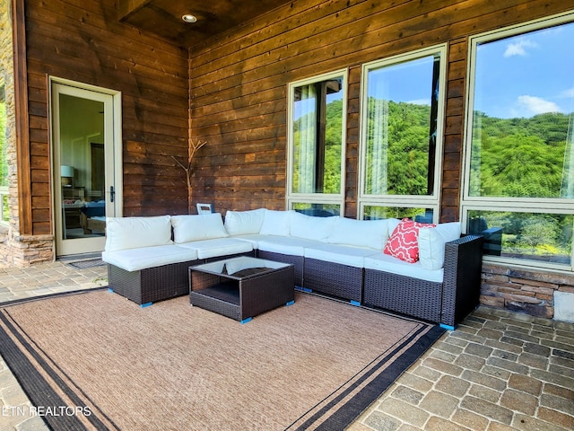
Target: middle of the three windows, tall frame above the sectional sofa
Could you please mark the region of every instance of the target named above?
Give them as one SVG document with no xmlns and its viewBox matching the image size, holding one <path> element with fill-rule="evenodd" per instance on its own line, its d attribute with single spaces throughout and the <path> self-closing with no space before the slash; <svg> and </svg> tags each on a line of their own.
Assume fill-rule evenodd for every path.
<svg viewBox="0 0 574 431">
<path fill-rule="evenodd" d="M 438 219 L 446 48 L 362 68 L 359 218 Z"/>
</svg>

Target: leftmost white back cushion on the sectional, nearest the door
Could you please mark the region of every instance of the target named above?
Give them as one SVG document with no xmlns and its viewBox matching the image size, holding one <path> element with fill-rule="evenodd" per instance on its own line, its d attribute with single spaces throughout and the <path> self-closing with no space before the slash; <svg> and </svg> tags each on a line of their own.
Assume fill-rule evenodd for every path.
<svg viewBox="0 0 574 431">
<path fill-rule="evenodd" d="M 106 251 L 172 244 L 170 216 L 107 217 Z"/>
</svg>

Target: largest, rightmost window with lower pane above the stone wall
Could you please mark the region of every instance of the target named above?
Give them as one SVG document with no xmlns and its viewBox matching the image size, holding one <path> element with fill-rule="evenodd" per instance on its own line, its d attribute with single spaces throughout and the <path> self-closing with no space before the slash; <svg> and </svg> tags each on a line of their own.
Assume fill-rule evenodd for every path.
<svg viewBox="0 0 574 431">
<path fill-rule="evenodd" d="M 461 207 L 466 232 L 486 232 L 486 259 L 572 269 L 572 20 L 470 40 Z"/>
</svg>

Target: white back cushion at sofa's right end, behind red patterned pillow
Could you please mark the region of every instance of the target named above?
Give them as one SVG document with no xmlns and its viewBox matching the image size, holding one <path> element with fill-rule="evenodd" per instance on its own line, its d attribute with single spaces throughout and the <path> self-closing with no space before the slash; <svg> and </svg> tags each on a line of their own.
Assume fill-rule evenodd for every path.
<svg viewBox="0 0 574 431">
<path fill-rule="evenodd" d="M 437 224 L 419 231 L 419 260 L 424 269 L 440 269 L 445 264 L 445 244 L 460 238 L 460 222 Z"/>
</svg>

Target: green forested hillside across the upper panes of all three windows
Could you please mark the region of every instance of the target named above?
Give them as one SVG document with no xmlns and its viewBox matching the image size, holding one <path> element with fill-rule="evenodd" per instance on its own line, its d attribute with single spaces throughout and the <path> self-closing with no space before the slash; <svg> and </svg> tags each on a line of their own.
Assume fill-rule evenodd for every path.
<svg viewBox="0 0 574 431">
<path fill-rule="evenodd" d="M 367 166 L 378 169 L 368 170 L 367 192 L 427 194 L 431 107 L 375 99 L 369 102 Z M 384 125 L 373 118 L 382 111 L 386 112 Z M 497 119 L 476 112 L 471 196 L 560 198 L 561 189 L 563 196 L 562 186 L 567 180 L 564 164 L 570 160 L 566 142 L 571 116 L 556 112 L 528 119 Z M 342 102 L 329 103 L 326 117 L 325 192 L 336 193 L 340 187 Z M 295 142 L 299 142 L 300 122 L 294 127 Z M 378 147 L 386 145 L 387 159 L 383 160 Z"/>
</svg>

